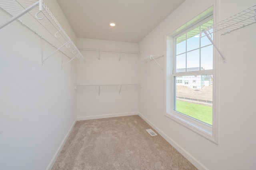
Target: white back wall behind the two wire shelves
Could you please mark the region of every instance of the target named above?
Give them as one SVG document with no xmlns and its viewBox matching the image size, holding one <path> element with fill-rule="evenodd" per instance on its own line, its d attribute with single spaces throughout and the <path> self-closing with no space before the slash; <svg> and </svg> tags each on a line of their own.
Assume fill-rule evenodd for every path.
<svg viewBox="0 0 256 170">
<path fill-rule="evenodd" d="M 78 48 L 138 52 L 138 43 L 77 39 Z M 80 50 L 86 62 L 77 69 L 77 85 L 138 84 L 138 54 Z M 77 89 L 78 120 L 134 115 L 138 112 L 138 89 Z M 113 115 L 114 114 L 114 115 Z"/>
</svg>

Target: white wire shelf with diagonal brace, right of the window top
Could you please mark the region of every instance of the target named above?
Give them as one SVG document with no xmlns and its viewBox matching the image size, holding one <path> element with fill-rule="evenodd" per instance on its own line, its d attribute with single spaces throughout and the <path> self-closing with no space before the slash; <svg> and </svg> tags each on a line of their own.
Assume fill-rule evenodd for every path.
<svg viewBox="0 0 256 170">
<path fill-rule="evenodd" d="M 253 24 L 255 22 L 256 22 L 256 5 L 254 5 L 250 8 L 247 8 L 246 10 L 243 10 L 233 16 L 230 16 L 230 17 L 226 18 L 225 20 L 218 22 L 217 24 L 213 24 L 212 26 L 209 26 L 208 28 L 200 30 L 200 37 L 207 36 L 207 38 L 210 40 L 210 42 L 212 42 L 214 47 L 217 49 L 217 51 L 222 56 L 223 63 L 225 63 L 226 59 L 225 59 L 224 55 L 221 53 L 219 48 L 215 45 L 215 43 L 211 39 L 212 34 L 218 33 L 221 35 L 225 35 L 234 30 L 237 30 L 239 28 L 243 28 L 245 26 Z M 204 33 L 203 36 L 202 36 L 202 33 Z"/>
</svg>

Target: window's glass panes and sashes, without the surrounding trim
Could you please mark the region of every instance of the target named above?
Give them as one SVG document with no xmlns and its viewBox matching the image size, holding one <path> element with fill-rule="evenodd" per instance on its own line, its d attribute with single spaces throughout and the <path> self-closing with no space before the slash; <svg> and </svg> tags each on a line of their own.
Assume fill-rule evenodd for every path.
<svg viewBox="0 0 256 170">
<path fill-rule="evenodd" d="M 204 101 L 212 101 L 212 86 L 205 82 L 204 77 L 209 74 L 212 77 L 213 74 L 213 45 L 208 39 L 200 38 L 199 35 L 202 28 L 212 24 L 212 19 L 203 21 L 173 39 L 174 49 L 176 49 L 174 50 L 173 78 L 182 77 L 182 79 L 193 82 L 184 87 L 174 83 L 174 111 L 208 125 L 212 125 L 212 104 Z M 192 77 L 196 79 L 190 76 L 191 72 L 193 72 Z M 182 80 L 178 80 L 178 83 L 182 83 Z M 177 96 L 184 97 L 184 99 L 180 100 Z"/>
</svg>

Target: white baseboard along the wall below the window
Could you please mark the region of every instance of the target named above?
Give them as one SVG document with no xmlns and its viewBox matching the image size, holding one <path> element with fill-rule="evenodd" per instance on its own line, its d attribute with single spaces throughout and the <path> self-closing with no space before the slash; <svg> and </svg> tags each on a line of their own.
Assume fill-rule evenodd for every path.
<svg viewBox="0 0 256 170">
<path fill-rule="evenodd" d="M 178 143 L 176 143 L 172 138 L 167 136 L 162 130 L 151 123 L 146 117 L 144 117 L 140 112 L 138 115 L 148 123 L 152 128 L 154 128 L 167 142 L 169 142 L 175 149 L 177 149 L 187 160 L 189 160 L 198 170 L 208 170 L 201 162 L 199 162 L 194 156 L 188 153 L 184 148 L 182 148 Z"/>
</svg>

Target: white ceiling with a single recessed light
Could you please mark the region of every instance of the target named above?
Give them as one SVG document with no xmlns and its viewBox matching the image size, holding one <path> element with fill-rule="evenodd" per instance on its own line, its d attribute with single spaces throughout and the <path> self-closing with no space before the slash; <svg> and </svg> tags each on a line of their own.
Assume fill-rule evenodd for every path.
<svg viewBox="0 0 256 170">
<path fill-rule="evenodd" d="M 132 43 L 140 42 L 184 1 L 57 0 L 77 38 Z"/>
</svg>

